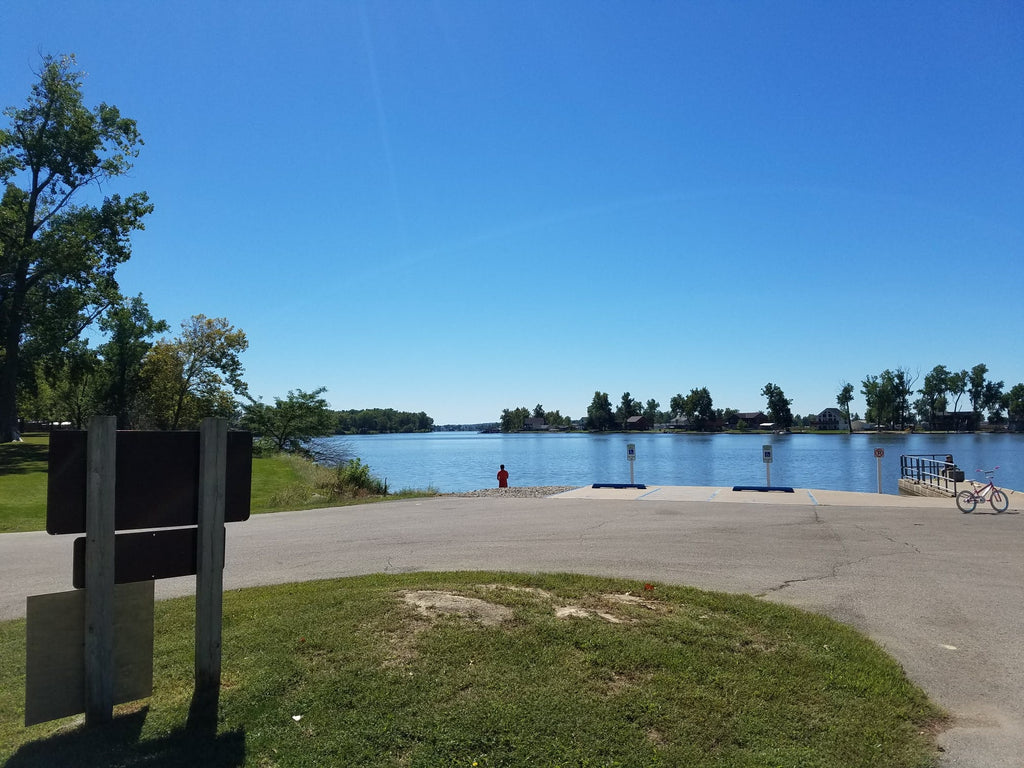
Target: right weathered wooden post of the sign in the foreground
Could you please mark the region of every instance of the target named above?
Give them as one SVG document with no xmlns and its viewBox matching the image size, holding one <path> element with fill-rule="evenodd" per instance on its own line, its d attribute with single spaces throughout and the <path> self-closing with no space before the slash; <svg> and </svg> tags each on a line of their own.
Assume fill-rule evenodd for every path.
<svg viewBox="0 0 1024 768">
<path fill-rule="evenodd" d="M 196 575 L 196 697 L 207 709 L 220 693 L 220 633 L 224 588 L 224 504 L 227 422 L 204 419 L 200 427 L 199 543 Z"/>
</svg>

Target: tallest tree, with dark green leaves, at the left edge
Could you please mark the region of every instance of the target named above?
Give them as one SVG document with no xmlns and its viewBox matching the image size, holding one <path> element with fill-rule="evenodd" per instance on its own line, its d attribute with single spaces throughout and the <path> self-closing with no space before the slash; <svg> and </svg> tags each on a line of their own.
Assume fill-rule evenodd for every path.
<svg viewBox="0 0 1024 768">
<path fill-rule="evenodd" d="M 144 193 L 80 203 L 122 176 L 142 140 L 116 106 L 82 102 L 74 56 L 46 56 L 0 130 L 0 442 L 17 439 L 17 385 L 34 357 L 62 349 L 118 298 L 129 234 L 153 210 Z"/>
</svg>

